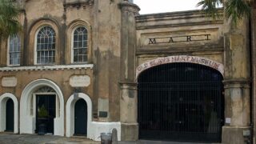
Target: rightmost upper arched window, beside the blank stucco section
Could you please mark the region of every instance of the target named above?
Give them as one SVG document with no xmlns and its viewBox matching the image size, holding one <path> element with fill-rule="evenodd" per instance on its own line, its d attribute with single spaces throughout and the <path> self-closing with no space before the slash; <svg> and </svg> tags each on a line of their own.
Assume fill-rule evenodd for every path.
<svg viewBox="0 0 256 144">
<path fill-rule="evenodd" d="M 87 62 L 88 32 L 85 27 L 78 27 L 73 35 L 73 62 Z"/>
</svg>

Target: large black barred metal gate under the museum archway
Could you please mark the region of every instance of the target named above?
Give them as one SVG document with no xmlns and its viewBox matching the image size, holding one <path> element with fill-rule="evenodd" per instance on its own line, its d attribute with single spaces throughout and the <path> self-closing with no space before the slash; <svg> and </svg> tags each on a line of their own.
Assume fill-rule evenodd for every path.
<svg viewBox="0 0 256 144">
<path fill-rule="evenodd" d="M 139 138 L 221 142 L 222 74 L 207 66 L 170 63 L 138 78 Z"/>
</svg>

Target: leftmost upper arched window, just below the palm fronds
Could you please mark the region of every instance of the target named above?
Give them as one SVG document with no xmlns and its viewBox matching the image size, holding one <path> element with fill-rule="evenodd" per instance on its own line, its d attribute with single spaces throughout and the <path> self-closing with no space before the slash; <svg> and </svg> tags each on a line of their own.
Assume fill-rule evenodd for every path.
<svg viewBox="0 0 256 144">
<path fill-rule="evenodd" d="M 8 65 L 19 66 L 21 59 L 21 38 L 18 35 L 10 37 L 8 50 Z"/>
</svg>

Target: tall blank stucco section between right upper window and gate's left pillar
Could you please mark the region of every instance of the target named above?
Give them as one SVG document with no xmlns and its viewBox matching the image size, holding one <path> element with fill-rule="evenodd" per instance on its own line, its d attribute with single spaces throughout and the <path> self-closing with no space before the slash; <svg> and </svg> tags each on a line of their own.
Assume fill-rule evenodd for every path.
<svg viewBox="0 0 256 144">
<path fill-rule="evenodd" d="M 106 108 L 108 118 L 101 121 L 119 121 L 119 73 L 120 70 L 120 1 L 97 1 L 94 14 L 94 92 L 98 106 Z M 108 108 L 108 109 L 107 109 Z M 102 109 L 101 109 L 102 110 Z"/>
</svg>

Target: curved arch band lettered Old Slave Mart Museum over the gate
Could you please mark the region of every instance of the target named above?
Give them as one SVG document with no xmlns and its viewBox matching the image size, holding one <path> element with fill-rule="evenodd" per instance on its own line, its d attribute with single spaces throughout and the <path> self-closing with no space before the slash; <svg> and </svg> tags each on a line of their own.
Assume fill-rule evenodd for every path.
<svg viewBox="0 0 256 144">
<path fill-rule="evenodd" d="M 142 63 L 136 69 L 136 79 L 138 78 L 139 74 L 141 74 L 144 70 L 150 69 L 151 67 L 159 66 L 167 63 L 177 63 L 177 62 L 188 62 L 188 63 L 195 63 L 203 66 L 209 66 L 215 70 L 218 70 L 222 74 L 222 76 L 224 75 L 224 66 L 222 63 L 215 62 L 208 58 L 195 57 L 190 55 L 177 55 L 177 56 L 156 58 L 148 62 Z"/>
</svg>

